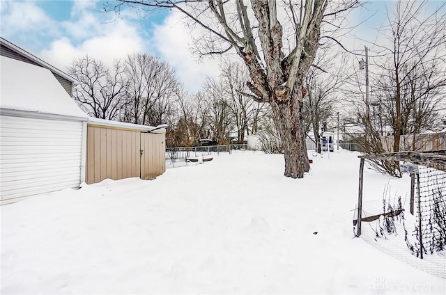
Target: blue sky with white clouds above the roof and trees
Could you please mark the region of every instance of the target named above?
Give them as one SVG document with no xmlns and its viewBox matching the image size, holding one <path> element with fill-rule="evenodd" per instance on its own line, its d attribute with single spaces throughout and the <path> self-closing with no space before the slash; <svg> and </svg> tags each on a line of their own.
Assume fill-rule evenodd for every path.
<svg viewBox="0 0 446 295">
<path fill-rule="evenodd" d="M 219 61 L 197 63 L 197 56 L 190 54 L 190 32 L 178 13 L 164 10 L 142 15 L 125 8 L 116 15 L 104 13 L 104 8 L 105 1 L 0 0 L 1 37 L 61 70 L 66 70 L 73 58 L 85 54 L 112 62 L 127 54 L 146 52 L 174 67 L 191 91 L 199 89 L 206 75 L 218 74 Z M 364 19 L 367 21 L 351 34 L 373 41 L 373 29 L 385 22 L 385 1 L 371 1 L 351 13 L 348 25 L 360 24 Z M 349 49 L 364 48 L 362 40 L 345 40 Z"/>
</svg>

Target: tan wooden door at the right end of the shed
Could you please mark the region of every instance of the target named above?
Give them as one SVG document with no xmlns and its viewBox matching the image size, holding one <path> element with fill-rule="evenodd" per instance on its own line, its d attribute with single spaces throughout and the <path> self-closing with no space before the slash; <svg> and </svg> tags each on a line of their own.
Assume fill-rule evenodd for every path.
<svg viewBox="0 0 446 295">
<path fill-rule="evenodd" d="M 166 171 L 164 134 L 141 132 L 141 179 L 152 180 Z"/>
</svg>

